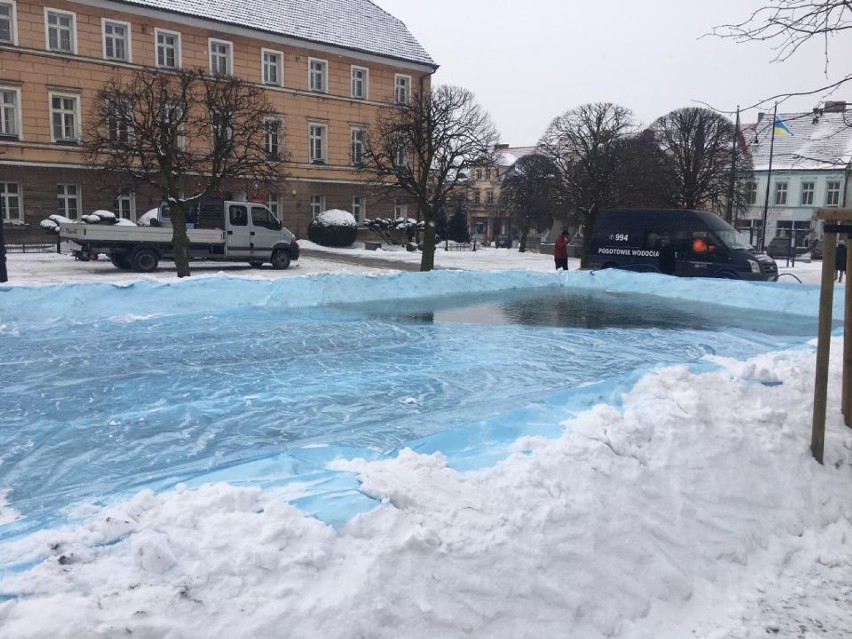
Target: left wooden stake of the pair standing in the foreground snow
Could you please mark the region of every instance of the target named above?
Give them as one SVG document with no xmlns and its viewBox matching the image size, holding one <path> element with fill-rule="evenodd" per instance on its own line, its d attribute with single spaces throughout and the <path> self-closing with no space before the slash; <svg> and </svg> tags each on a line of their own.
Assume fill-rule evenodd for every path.
<svg viewBox="0 0 852 639">
<path fill-rule="evenodd" d="M 811 454 L 820 464 L 825 451 L 825 406 L 828 400 L 828 359 L 831 349 L 831 310 L 834 305 L 834 259 L 837 233 L 827 232 L 822 254 L 822 281 L 819 293 L 819 336 L 814 377 L 814 415 L 811 428 Z"/>
</svg>

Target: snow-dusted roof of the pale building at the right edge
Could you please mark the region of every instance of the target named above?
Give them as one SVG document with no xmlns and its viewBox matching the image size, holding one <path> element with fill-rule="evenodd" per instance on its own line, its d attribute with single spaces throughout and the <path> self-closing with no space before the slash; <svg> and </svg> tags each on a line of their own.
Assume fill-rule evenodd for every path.
<svg viewBox="0 0 852 639">
<path fill-rule="evenodd" d="M 791 135 L 775 135 L 772 170 L 837 170 L 852 162 L 852 112 L 779 113 Z M 772 114 L 743 127 L 755 171 L 769 169 Z M 755 142 L 756 140 L 756 142 Z"/>
</svg>

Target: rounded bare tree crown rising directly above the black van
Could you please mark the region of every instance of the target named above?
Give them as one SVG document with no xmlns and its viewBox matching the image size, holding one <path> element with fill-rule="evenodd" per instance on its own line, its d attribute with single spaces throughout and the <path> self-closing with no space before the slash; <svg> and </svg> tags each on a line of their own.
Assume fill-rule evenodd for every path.
<svg viewBox="0 0 852 639">
<path fill-rule="evenodd" d="M 710 109 L 688 107 L 658 118 L 651 130 L 670 160 L 668 170 L 678 207 L 722 213 L 732 172 L 734 206 L 747 206 L 751 154 L 742 146 L 734 157 L 734 144 L 740 140 L 730 120 Z"/>
</svg>

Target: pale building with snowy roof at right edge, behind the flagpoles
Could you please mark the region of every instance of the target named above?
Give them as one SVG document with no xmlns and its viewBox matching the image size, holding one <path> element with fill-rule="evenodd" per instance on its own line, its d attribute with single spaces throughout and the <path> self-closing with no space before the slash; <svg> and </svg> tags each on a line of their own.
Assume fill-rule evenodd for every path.
<svg viewBox="0 0 852 639">
<path fill-rule="evenodd" d="M 845 102 L 828 102 L 809 113 L 778 117 L 788 131 L 778 131 L 774 139 L 771 113 L 744 132 L 754 158 L 754 180 L 749 208 L 738 216 L 736 227 L 754 246 L 765 248 L 773 238 L 784 237 L 804 250 L 822 238 L 817 209 L 850 201 L 852 113 Z"/>
</svg>

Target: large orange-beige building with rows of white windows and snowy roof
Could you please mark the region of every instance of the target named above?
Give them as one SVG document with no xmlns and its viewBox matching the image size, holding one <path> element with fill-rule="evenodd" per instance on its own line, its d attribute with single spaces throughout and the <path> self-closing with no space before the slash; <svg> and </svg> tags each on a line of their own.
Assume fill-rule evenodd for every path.
<svg viewBox="0 0 852 639">
<path fill-rule="evenodd" d="M 246 7 L 249 10 L 246 10 Z M 0 212 L 6 241 L 59 213 L 135 220 L 158 194 L 105 192 L 82 132 L 98 89 L 143 66 L 202 68 L 263 87 L 280 113 L 290 178 L 252 193 L 304 234 L 339 208 L 388 217 L 355 170 L 377 110 L 428 90 L 437 69 L 406 26 L 367 0 L 0 0 Z M 238 189 L 239 185 L 235 185 Z"/>
</svg>

